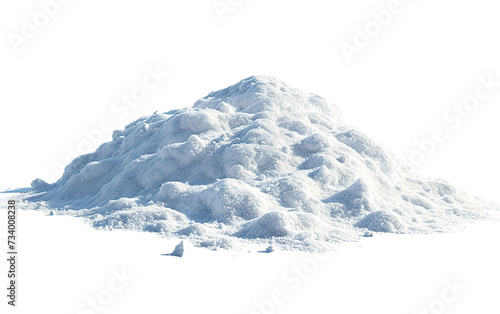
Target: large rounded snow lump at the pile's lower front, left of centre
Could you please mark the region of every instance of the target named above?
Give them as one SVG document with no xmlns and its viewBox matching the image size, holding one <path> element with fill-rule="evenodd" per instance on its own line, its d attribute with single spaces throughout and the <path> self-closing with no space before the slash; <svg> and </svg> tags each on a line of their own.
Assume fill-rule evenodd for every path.
<svg viewBox="0 0 500 314">
<path fill-rule="evenodd" d="M 223 179 L 203 192 L 212 219 L 231 222 L 251 220 L 268 211 L 270 200 L 258 188 L 243 181 Z"/>
</svg>

